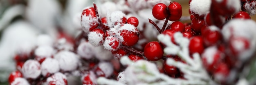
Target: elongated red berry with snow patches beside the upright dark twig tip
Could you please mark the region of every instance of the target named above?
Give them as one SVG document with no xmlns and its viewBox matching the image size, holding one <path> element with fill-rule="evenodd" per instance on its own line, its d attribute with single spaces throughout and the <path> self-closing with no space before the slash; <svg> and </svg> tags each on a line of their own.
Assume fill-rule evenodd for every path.
<svg viewBox="0 0 256 85">
<path fill-rule="evenodd" d="M 95 9 L 93 7 L 87 7 L 83 10 L 81 15 L 81 25 L 85 33 L 88 33 L 99 25 Z"/>
</svg>

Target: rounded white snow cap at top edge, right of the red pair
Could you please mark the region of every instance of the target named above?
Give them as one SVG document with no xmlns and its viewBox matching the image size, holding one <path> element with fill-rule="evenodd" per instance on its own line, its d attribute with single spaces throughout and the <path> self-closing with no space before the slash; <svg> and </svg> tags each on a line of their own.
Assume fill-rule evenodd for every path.
<svg viewBox="0 0 256 85">
<path fill-rule="evenodd" d="M 190 11 L 201 15 L 209 13 L 211 7 L 211 0 L 192 0 L 190 3 Z"/>
</svg>

